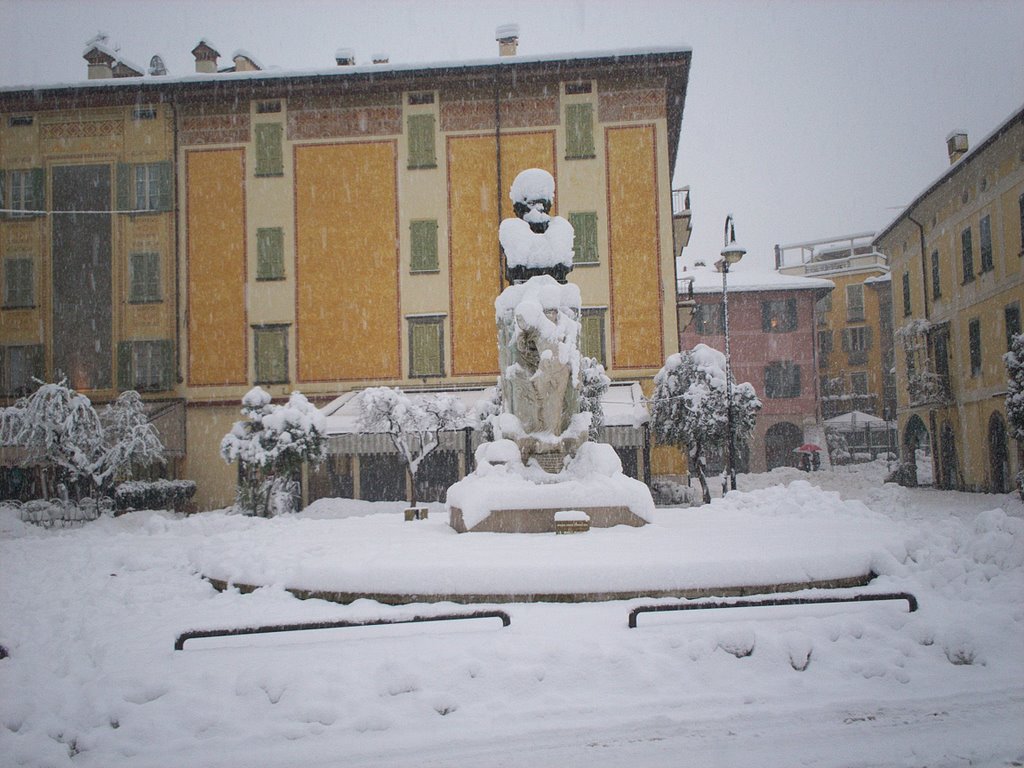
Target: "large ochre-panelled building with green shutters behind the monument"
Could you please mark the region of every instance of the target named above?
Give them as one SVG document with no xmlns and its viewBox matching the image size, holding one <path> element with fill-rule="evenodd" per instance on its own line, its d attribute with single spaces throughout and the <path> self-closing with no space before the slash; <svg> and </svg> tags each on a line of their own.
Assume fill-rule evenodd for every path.
<svg viewBox="0 0 1024 768">
<path fill-rule="evenodd" d="M 0 91 L 4 393 L 61 372 L 98 402 L 144 391 L 185 435 L 176 469 L 199 506 L 227 505 L 219 443 L 256 384 L 321 402 L 494 384 L 498 225 L 528 167 L 554 175 L 577 230 L 585 353 L 649 386 L 678 349 L 690 52 L 502 45 L 286 73 L 241 52 L 218 71 L 201 41 L 197 74 L 168 78 L 97 44 L 87 83 Z"/>
</svg>

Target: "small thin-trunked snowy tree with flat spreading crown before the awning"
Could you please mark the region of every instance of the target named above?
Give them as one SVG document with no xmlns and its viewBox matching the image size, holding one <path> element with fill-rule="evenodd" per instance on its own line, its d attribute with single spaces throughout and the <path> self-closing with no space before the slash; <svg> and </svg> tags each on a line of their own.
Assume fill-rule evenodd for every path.
<svg viewBox="0 0 1024 768">
<path fill-rule="evenodd" d="M 410 396 L 397 387 L 371 387 L 359 395 L 359 428 L 384 432 L 391 438 L 406 465 L 412 488 L 409 503 L 415 507 L 420 464 L 440 444 L 441 432 L 465 426 L 462 400 L 451 394 Z"/>
</svg>

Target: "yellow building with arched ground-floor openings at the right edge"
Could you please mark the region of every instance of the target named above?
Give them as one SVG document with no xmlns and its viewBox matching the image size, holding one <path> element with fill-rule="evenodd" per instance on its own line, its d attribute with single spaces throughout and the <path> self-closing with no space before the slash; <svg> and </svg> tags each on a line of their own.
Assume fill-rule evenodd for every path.
<svg viewBox="0 0 1024 768">
<path fill-rule="evenodd" d="M 1024 110 L 947 148 L 948 170 L 874 240 L 892 270 L 903 460 L 941 487 L 1004 493 L 1022 465 L 1002 355 L 1024 303 Z M 915 464 L 928 449 L 934 465 Z"/>
</svg>

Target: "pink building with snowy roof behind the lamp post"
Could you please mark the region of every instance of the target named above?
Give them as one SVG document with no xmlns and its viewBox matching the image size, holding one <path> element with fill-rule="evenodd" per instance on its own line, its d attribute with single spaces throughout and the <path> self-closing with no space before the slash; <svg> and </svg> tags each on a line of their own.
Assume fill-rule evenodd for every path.
<svg viewBox="0 0 1024 768">
<path fill-rule="evenodd" d="M 794 466 L 793 451 L 804 442 L 824 447 L 819 422 L 818 367 L 815 359 L 814 304 L 828 294 L 831 281 L 732 267 L 728 274 L 729 347 L 732 374 L 750 382 L 763 408 L 748 445 L 736 451 L 738 472 L 765 472 Z M 696 344 L 725 351 L 722 273 L 713 267 L 680 273 L 679 348 Z M 685 309 L 692 281 L 693 316 Z M 724 466 L 709 458 L 709 470 Z"/>
</svg>

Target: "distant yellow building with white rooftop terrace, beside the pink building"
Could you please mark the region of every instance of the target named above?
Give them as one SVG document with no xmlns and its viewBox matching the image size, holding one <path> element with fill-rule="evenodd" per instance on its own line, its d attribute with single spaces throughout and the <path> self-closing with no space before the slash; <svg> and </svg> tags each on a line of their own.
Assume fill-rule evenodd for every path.
<svg viewBox="0 0 1024 768">
<path fill-rule="evenodd" d="M 826 278 L 835 290 L 815 307 L 821 418 L 853 411 L 895 414 L 889 264 L 874 232 L 775 246 L 783 274 Z"/>
</svg>

